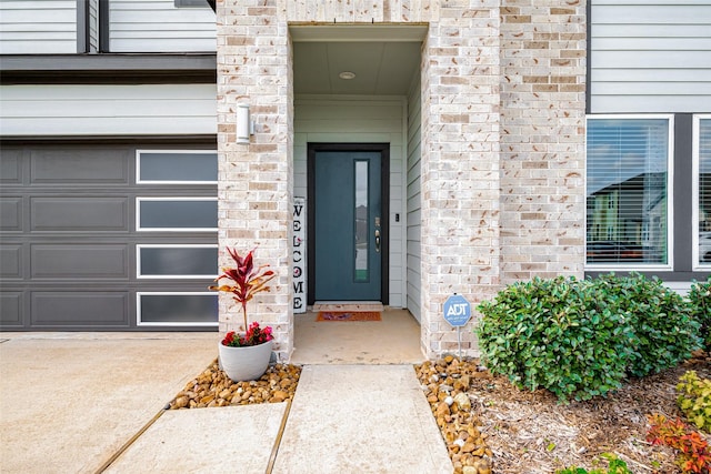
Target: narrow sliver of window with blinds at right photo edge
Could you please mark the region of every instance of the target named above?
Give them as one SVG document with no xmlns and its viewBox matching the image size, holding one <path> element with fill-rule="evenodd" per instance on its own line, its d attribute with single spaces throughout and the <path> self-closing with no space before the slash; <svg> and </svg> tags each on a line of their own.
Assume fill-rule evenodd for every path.
<svg viewBox="0 0 711 474">
<path fill-rule="evenodd" d="M 699 215 L 699 264 L 711 266 L 711 118 L 698 118 L 698 215 Z"/>
</svg>

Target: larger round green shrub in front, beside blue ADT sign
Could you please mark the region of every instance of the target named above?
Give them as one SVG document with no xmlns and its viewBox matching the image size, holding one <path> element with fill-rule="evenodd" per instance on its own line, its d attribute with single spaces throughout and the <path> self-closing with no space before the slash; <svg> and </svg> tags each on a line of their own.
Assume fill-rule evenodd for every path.
<svg viewBox="0 0 711 474">
<path fill-rule="evenodd" d="M 631 327 L 591 281 L 533 279 L 482 302 L 482 356 L 520 389 L 589 400 L 619 389 L 632 350 Z"/>
</svg>

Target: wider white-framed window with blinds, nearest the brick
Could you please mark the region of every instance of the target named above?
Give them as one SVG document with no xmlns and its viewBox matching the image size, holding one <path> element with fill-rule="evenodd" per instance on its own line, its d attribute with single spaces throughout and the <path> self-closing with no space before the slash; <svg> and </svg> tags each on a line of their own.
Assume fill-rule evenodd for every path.
<svg viewBox="0 0 711 474">
<path fill-rule="evenodd" d="M 669 118 L 588 120 L 587 262 L 668 265 Z"/>
</svg>

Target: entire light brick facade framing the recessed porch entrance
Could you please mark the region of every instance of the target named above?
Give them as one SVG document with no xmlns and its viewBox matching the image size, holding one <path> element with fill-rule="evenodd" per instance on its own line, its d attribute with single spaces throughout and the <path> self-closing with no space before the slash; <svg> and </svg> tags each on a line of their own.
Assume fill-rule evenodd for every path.
<svg viewBox="0 0 711 474">
<path fill-rule="evenodd" d="M 427 24 L 422 47 L 421 346 L 457 350 L 442 316 L 535 275 L 582 276 L 585 3 L 570 0 L 218 0 L 220 248 L 278 272 L 250 315 L 293 349 L 293 97 L 289 24 Z M 257 122 L 236 143 L 234 110 Z M 221 260 L 227 264 L 227 260 Z M 220 330 L 239 326 L 229 296 Z M 478 353 L 471 331 L 462 350 Z"/>
</svg>

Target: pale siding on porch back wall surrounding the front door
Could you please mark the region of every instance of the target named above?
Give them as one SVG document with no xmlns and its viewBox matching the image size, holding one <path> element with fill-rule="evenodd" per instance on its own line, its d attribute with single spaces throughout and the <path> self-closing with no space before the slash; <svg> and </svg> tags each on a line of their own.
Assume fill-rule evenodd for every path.
<svg viewBox="0 0 711 474">
<path fill-rule="evenodd" d="M 303 95 L 294 100 L 296 196 L 307 196 L 308 143 L 390 143 L 389 305 L 393 307 L 405 305 L 403 115 L 402 98 Z"/>
</svg>

